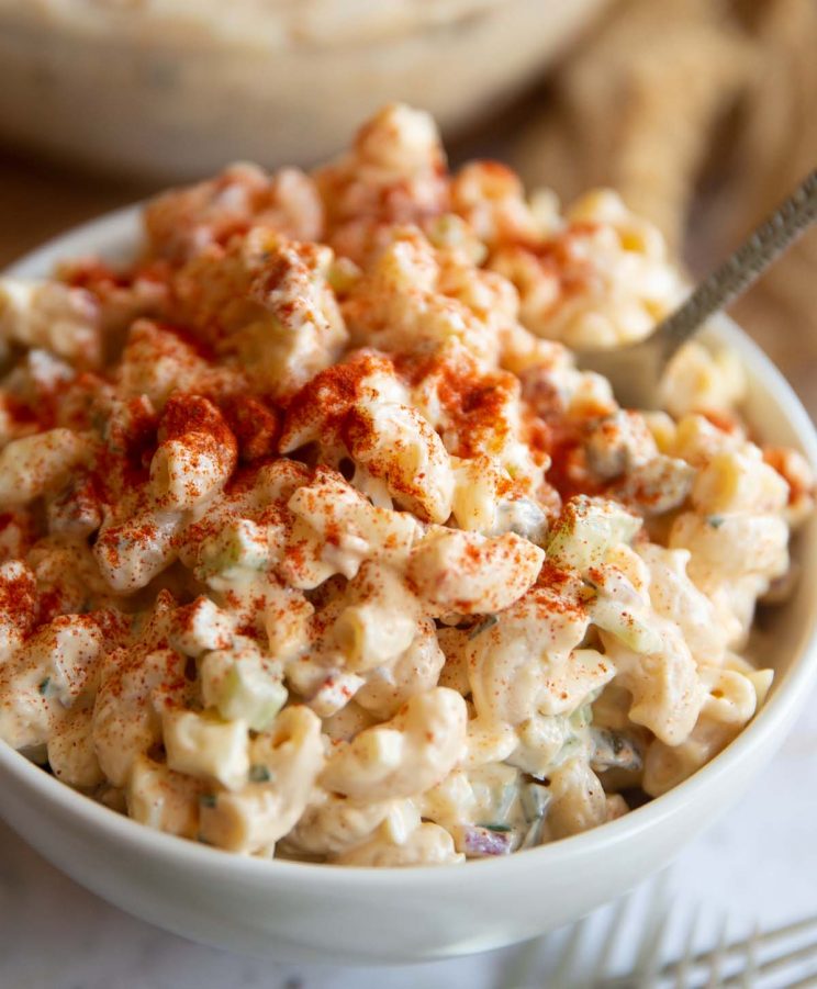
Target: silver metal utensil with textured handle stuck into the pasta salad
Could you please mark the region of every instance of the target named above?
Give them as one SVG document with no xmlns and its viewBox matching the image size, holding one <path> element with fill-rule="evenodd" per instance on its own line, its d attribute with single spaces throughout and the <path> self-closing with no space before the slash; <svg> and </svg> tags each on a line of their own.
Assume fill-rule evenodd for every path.
<svg viewBox="0 0 817 989">
<path fill-rule="evenodd" d="M 607 378 L 622 405 L 657 408 L 661 374 L 682 344 L 748 289 L 816 220 L 817 169 L 647 339 L 627 347 L 579 351 L 579 367 Z"/>
</svg>

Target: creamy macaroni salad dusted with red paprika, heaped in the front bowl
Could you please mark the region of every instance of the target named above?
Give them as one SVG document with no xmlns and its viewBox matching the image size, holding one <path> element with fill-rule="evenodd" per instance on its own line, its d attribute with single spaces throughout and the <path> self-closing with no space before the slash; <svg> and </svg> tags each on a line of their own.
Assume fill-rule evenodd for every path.
<svg viewBox="0 0 817 989">
<path fill-rule="evenodd" d="M 602 824 L 753 717 L 812 474 L 729 352 L 663 412 L 577 369 L 685 291 L 615 193 L 451 173 L 393 104 L 143 222 L 0 279 L 0 738 L 171 834 L 406 866 Z"/>
</svg>

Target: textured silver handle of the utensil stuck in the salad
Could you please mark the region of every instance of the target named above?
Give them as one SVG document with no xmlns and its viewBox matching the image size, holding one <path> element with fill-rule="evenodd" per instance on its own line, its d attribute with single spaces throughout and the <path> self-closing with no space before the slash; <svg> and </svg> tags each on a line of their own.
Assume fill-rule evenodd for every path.
<svg viewBox="0 0 817 989">
<path fill-rule="evenodd" d="M 817 169 L 656 328 L 669 360 L 713 313 L 729 305 L 817 220 Z"/>
</svg>

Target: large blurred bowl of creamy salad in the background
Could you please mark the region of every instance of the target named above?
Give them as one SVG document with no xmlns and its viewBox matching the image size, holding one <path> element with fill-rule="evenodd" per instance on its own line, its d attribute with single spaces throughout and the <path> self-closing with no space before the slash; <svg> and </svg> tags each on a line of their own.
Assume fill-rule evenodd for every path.
<svg viewBox="0 0 817 989">
<path fill-rule="evenodd" d="M 446 133 L 608 0 L 0 0 L 0 138 L 148 180 L 314 164 L 387 100 Z"/>
</svg>

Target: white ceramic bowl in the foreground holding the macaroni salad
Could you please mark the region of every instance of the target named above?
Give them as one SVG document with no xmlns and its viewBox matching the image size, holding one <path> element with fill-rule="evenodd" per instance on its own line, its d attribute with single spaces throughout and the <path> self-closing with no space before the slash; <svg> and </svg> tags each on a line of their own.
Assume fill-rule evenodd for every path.
<svg viewBox="0 0 817 989">
<path fill-rule="evenodd" d="M 81 227 L 19 262 L 132 251 L 137 215 Z M 763 438 L 817 463 L 817 437 L 794 393 L 734 325 L 716 336 L 751 380 L 747 414 Z M 58 783 L 0 742 L 0 816 L 78 883 L 197 941 L 287 959 L 418 962 L 499 947 L 572 921 L 656 872 L 749 785 L 762 779 L 817 675 L 817 519 L 797 538 L 794 598 L 774 615 L 775 685 L 724 753 L 663 797 L 594 831 L 459 867 L 342 868 L 231 855 L 153 831 Z"/>
</svg>

